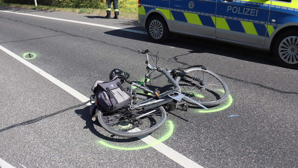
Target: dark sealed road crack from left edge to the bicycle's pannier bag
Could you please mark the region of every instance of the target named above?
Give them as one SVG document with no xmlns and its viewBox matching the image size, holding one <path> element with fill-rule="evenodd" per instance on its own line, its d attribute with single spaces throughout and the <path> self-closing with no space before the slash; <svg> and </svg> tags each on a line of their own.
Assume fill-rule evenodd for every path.
<svg viewBox="0 0 298 168">
<path fill-rule="evenodd" d="M 42 119 L 46 119 L 46 118 L 51 117 L 51 116 L 54 116 L 54 115 L 56 115 L 56 114 L 63 113 L 63 112 L 65 112 L 65 111 L 67 111 L 67 110 L 71 110 L 71 109 L 80 107 L 80 106 L 82 106 L 82 105 L 86 105 L 88 102 L 89 102 L 89 101 L 86 101 L 86 102 L 81 103 L 81 104 L 79 104 L 79 105 L 74 105 L 74 106 L 71 106 L 71 107 L 66 108 L 66 109 L 64 109 L 64 110 L 57 111 L 57 112 L 52 113 L 52 114 L 43 115 L 43 116 L 40 116 L 40 117 L 35 118 L 35 119 L 30 119 L 30 120 L 28 120 L 28 121 L 25 121 L 25 122 L 22 122 L 22 123 L 19 123 L 19 124 L 14 124 L 14 125 L 8 126 L 8 127 L 6 127 L 6 128 L 0 129 L 0 133 L 3 132 L 3 131 L 5 131 L 5 130 L 14 128 L 14 127 L 19 127 L 19 126 L 22 126 L 22 125 L 28 125 L 28 124 L 36 123 L 36 122 L 38 122 L 38 121 L 40 121 L 40 120 L 42 120 Z"/>
</svg>

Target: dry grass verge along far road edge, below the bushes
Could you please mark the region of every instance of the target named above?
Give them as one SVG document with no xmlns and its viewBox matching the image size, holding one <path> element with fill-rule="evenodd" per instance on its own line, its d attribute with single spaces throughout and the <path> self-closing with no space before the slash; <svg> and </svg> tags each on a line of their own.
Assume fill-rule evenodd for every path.
<svg viewBox="0 0 298 168">
<path fill-rule="evenodd" d="M 137 1 L 136 1 L 137 2 Z M 105 9 L 93 9 L 93 8 L 63 8 L 63 7 L 51 7 L 51 6 L 43 6 L 43 5 L 21 5 L 21 4 L 12 4 L 12 3 L 3 3 L 0 0 L 0 6 L 7 6 L 7 7 L 19 7 L 19 8 L 27 8 L 27 9 L 42 9 L 42 10 L 52 10 L 52 11 L 63 11 L 63 12 L 75 12 L 75 13 L 85 13 L 85 14 L 92 14 L 92 15 L 106 15 Z M 114 16 L 114 11 L 112 8 L 111 16 Z M 130 2 L 124 4 L 123 9 L 119 9 L 119 17 L 131 18 L 131 19 L 138 19 L 138 4 L 134 6 L 134 2 Z"/>
</svg>

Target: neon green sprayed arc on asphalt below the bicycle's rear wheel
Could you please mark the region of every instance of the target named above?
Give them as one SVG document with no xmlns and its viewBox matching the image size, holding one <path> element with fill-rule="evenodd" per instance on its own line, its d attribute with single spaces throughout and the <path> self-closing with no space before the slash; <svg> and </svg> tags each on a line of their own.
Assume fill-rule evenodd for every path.
<svg viewBox="0 0 298 168">
<path fill-rule="evenodd" d="M 170 136 L 172 136 L 173 132 L 174 132 L 174 125 L 173 125 L 173 122 L 172 121 L 168 121 L 169 123 L 169 132 L 165 134 L 165 136 L 161 137 L 160 139 L 156 140 L 155 142 L 151 143 L 151 144 L 148 144 L 148 145 L 145 145 L 145 146 L 141 146 L 141 147 L 117 147 L 117 146 L 114 146 L 114 145 L 111 145 L 111 144 L 108 144 L 106 143 L 105 141 L 98 141 L 98 143 L 102 144 L 103 146 L 106 146 L 106 147 L 110 147 L 110 148 L 113 148 L 113 149 L 118 149 L 118 150 L 139 150 L 139 149 L 145 149 L 147 147 L 151 147 L 153 145 L 156 145 L 160 142 L 163 142 L 165 140 L 167 140 L 168 138 L 170 138 Z"/>
</svg>

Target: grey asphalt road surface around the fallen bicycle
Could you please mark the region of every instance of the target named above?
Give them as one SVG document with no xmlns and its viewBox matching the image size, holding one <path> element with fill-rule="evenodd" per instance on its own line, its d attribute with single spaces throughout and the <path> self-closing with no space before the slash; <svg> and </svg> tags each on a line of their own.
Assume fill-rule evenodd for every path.
<svg viewBox="0 0 298 168">
<path fill-rule="evenodd" d="M 214 41 L 152 43 L 146 32 L 137 20 L 0 7 L 0 167 L 298 167 L 297 70 Z M 144 80 L 138 49 L 158 53 L 158 67 L 208 67 L 230 98 L 210 111 L 178 107 L 143 139 L 111 137 L 91 120 L 91 87 L 114 68 Z M 149 88 L 171 87 L 151 76 Z"/>
</svg>

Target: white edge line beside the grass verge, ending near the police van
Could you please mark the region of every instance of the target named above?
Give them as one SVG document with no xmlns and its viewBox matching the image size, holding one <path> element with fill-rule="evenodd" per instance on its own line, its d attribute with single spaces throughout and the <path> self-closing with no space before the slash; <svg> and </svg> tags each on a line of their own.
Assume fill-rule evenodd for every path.
<svg viewBox="0 0 298 168">
<path fill-rule="evenodd" d="M 32 14 L 27 14 L 27 13 L 19 13 L 19 12 L 11 12 L 11 11 L 1 11 L 0 10 L 0 12 L 16 13 L 16 14 L 20 14 L 20 15 L 42 17 L 42 18 L 47 18 L 47 19 L 59 20 L 59 21 L 68 21 L 68 22 L 74 22 L 74 23 L 80 23 L 80 24 L 92 25 L 92 26 L 99 26 L 99 27 L 106 27 L 106 28 L 110 28 L 110 29 L 124 30 L 124 31 L 130 31 L 130 32 L 134 32 L 134 33 L 147 35 L 147 32 L 144 32 L 144 31 L 131 30 L 131 29 L 125 29 L 125 28 L 121 28 L 121 27 L 114 27 L 114 26 L 106 26 L 106 25 L 88 23 L 88 22 L 83 22 L 83 21 L 73 21 L 73 20 L 67 20 L 67 19 L 59 19 L 59 18 L 55 18 L 55 17 L 39 16 L 39 15 L 32 15 Z"/>
</svg>

